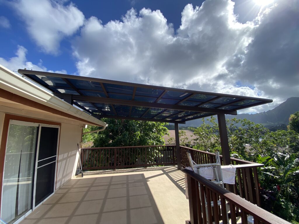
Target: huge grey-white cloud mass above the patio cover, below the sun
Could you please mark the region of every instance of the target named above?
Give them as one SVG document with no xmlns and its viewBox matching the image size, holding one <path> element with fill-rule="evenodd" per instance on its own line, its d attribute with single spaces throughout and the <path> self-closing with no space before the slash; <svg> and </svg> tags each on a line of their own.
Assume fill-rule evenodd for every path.
<svg viewBox="0 0 299 224">
<path fill-rule="evenodd" d="M 187 4 L 178 30 L 159 10 L 131 9 L 107 24 L 91 17 L 72 42 L 78 73 L 272 98 L 273 104 L 248 111 L 271 109 L 299 93 L 299 18 L 292 4 L 277 1 L 245 24 L 231 0 Z"/>
</svg>

